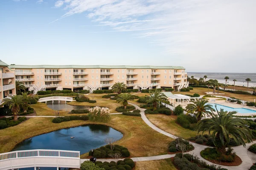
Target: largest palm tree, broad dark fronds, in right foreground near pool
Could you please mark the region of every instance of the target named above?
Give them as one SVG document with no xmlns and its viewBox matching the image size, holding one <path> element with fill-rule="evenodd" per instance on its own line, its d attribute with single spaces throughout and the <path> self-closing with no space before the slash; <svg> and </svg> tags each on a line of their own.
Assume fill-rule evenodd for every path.
<svg viewBox="0 0 256 170">
<path fill-rule="evenodd" d="M 217 110 L 217 106 L 215 106 Z M 251 130 L 246 127 L 246 123 L 243 119 L 233 118 L 233 114 L 236 111 L 227 112 L 221 109 L 217 110 L 217 115 L 210 113 L 212 119 L 204 119 L 198 122 L 198 133 L 207 131 L 210 136 L 212 136 L 214 145 L 217 150 L 225 154 L 226 147 L 230 142 L 230 136 L 233 136 L 236 144 L 243 144 L 245 146 L 245 141 L 252 142 Z"/>
</svg>

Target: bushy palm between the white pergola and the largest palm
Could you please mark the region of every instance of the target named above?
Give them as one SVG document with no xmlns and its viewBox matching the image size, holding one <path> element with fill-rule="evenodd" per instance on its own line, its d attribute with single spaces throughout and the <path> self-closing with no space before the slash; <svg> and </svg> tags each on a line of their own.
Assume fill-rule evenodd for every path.
<svg viewBox="0 0 256 170">
<path fill-rule="evenodd" d="M 205 114 L 210 114 L 211 111 L 215 111 L 215 109 L 212 108 L 212 105 L 206 105 L 208 103 L 208 100 L 205 99 L 196 99 L 195 101 L 192 101 L 192 103 L 188 104 L 186 106 L 186 112 L 195 114 L 198 121 L 201 120 L 202 116 L 205 116 Z"/>
</svg>

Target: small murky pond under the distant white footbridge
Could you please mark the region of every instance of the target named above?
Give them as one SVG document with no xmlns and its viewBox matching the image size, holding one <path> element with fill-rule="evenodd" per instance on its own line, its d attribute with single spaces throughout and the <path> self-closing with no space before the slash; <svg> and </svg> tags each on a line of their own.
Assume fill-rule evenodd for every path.
<svg viewBox="0 0 256 170">
<path fill-rule="evenodd" d="M 77 110 L 77 109 L 88 109 L 90 107 L 88 106 L 73 106 L 73 105 L 68 105 L 65 104 L 64 101 L 60 101 L 60 103 L 58 101 L 54 101 L 52 102 L 47 102 L 47 107 L 51 108 L 52 110 L 55 111 L 72 111 L 72 110 Z"/>
</svg>

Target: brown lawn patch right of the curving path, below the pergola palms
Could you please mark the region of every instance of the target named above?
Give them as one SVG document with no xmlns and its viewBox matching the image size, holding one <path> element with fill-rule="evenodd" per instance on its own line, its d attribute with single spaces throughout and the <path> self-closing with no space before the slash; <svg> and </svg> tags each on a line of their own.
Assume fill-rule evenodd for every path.
<svg viewBox="0 0 256 170">
<path fill-rule="evenodd" d="M 177 116 L 167 116 L 164 114 L 146 114 L 148 120 L 160 129 L 179 136 L 183 139 L 189 139 L 197 135 L 196 131 L 185 129 L 178 125 L 175 121 Z"/>
</svg>

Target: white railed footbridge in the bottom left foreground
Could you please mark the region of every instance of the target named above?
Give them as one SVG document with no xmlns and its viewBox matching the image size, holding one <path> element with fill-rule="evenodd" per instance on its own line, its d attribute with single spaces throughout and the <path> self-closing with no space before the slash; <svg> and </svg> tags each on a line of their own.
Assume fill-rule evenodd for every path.
<svg viewBox="0 0 256 170">
<path fill-rule="evenodd" d="M 37 149 L 0 154 L 0 170 L 27 167 L 80 168 L 80 151 Z"/>
</svg>

